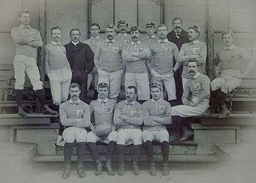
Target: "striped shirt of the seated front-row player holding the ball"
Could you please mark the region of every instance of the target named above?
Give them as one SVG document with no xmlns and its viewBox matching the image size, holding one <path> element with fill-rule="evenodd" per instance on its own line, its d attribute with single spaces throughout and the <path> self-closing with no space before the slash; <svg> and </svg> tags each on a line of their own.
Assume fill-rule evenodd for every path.
<svg viewBox="0 0 256 183">
<path fill-rule="evenodd" d="M 102 123 L 113 124 L 113 115 L 115 111 L 116 101 L 114 99 L 106 99 L 104 101 L 97 99 L 90 103 L 92 122 L 95 125 Z"/>
</svg>

